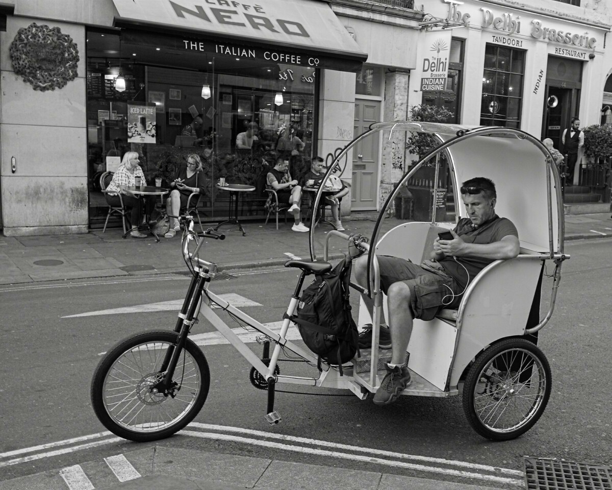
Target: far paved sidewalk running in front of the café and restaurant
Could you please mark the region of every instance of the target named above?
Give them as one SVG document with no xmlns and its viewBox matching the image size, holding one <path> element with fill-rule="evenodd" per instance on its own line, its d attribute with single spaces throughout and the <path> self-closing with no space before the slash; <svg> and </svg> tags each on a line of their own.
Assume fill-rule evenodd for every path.
<svg viewBox="0 0 612 490">
<path fill-rule="evenodd" d="M 347 234 L 371 236 L 378 214 L 354 213 L 343 224 Z M 361 219 L 359 219 L 361 218 Z M 386 219 L 383 232 L 400 220 Z M 222 228 L 226 239 L 211 240 L 205 256 L 220 270 L 267 265 L 282 265 L 292 255 L 310 260 L 308 233 L 291 231 L 291 224 L 245 222 L 247 236 L 233 225 Z M 332 228 L 316 228 L 315 253 L 322 257 L 326 233 Z M 88 277 L 138 276 L 144 274 L 182 273 L 185 269 L 181 239 L 121 238 L 121 229 L 92 230 L 83 235 L 0 236 L 0 284 L 84 279 Z M 610 214 L 565 216 L 565 239 L 612 236 Z M 332 239 L 330 258 L 346 251 L 346 242 Z"/>
</svg>

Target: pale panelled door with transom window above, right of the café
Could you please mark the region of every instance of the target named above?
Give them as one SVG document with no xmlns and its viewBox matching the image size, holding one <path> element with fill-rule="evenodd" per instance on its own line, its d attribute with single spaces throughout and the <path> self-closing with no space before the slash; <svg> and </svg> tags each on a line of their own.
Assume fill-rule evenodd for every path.
<svg viewBox="0 0 612 490">
<path fill-rule="evenodd" d="M 353 137 L 367 131 L 370 124 L 379 120 L 379 100 L 355 100 Z M 378 191 L 379 136 L 365 138 L 353 148 L 353 184 L 351 210 L 371 211 L 376 209 Z"/>
</svg>

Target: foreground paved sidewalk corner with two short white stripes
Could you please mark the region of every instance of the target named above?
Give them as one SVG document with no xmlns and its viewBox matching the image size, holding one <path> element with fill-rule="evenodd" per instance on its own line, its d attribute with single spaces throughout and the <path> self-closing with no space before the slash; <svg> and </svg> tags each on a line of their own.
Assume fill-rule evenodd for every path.
<svg viewBox="0 0 612 490">
<path fill-rule="evenodd" d="M 502 490 L 523 483 L 520 472 L 502 469 L 466 471 L 464 481 L 472 483 L 456 483 L 428 478 L 441 477 L 444 469 L 439 467 L 419 472 L 420 478 L 399 475 L 403 461 L 397 461 L 398 472 L 392 464 L 388 472 L 375 472 L 163 444 L 125 452 L 119 459 L 121 465 L 115 456 L 113 470 L 100 456 L 78 466 L 0 481 L 0 490 Z"/>
</svg>

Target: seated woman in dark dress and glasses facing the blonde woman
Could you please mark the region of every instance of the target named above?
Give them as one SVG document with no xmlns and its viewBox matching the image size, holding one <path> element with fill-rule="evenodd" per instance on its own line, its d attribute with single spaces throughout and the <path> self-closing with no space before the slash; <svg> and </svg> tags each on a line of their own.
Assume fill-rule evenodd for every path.
<svg viewBox="0 0 612 490">
<path fill-rule="evenodd" d="M 172 216 L 179 216 L 181 209 L 187 207 L 187 200 L 193 192 L 206 193 L 206 177 L 200 156 L 192 153 L 185 161 L 186 165 L 179 169 L 174 181 L 170 183 L 170 195 L 166 199 L 166 211 Z M 180 230 L 179 220 L 170 217 L 170 230 L 164 236 L 172 238 Z"/>
</svg>

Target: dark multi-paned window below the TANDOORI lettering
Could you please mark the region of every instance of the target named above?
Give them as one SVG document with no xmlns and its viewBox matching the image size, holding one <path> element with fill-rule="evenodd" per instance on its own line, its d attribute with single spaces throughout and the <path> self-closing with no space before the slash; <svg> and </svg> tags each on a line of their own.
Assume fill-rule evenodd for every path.
<svg viewBox="0 0 612 490">
<path fill-rule="evenodd" d="M 480 124 L 520 127 L 525 51 L 494 44 L 485 48 Z"/>
</svg>

